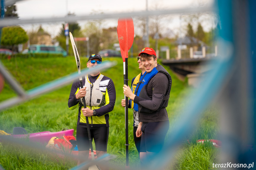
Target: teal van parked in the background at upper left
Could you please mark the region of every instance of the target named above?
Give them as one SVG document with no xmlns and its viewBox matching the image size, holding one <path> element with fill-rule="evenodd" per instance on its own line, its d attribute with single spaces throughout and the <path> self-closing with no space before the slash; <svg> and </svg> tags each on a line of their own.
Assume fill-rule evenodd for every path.
<svg viewBox="0 0 256 170">
<path fill-rule="evenodd" d="M 28 48 L 28 53 L 49 53 L 49 54 L 62 54 L 67 56 L 67 52 L 61 46 L 38 45 L 33 44 Z"/>
</svg>

